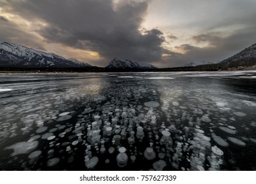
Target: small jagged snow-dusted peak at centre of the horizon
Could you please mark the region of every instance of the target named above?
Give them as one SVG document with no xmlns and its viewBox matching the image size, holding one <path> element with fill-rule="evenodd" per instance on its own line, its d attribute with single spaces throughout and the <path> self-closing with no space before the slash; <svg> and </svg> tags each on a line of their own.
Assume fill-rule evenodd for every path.
<svg viewBox="0 0 256 184">
<path fill-rule="evenodd" d="M 152 64 L 138 64 L 137 62 L 132 62 L 131 60 L 118 60 L 114 58 L 109 62 L 109 64 L 105 67 L 111 70 L 147 70 L 147 69 L 155 69 L 157 67 Z"/>
</svg>

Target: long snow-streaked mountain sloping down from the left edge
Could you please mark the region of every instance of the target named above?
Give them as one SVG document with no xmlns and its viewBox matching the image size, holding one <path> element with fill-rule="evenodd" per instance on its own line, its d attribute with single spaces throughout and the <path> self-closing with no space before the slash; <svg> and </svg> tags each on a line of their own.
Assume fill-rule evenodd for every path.
<svg viewBox="0 0 256 184">
<path fill-rule="evenodd" d="M 54 53 L 44 53 L 9 42 L 0 43 L 0 67 L 86 68 L 90 66 L 88 63 L 66 59 Z"/>
</svg>

